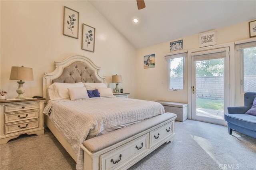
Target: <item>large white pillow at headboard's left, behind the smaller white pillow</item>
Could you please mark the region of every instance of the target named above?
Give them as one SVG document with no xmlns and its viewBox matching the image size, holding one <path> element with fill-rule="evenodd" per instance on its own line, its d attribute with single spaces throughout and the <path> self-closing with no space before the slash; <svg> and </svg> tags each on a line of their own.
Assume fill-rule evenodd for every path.
<svg viewBox="0 0 256 170">
<path fill-rule="evenodd" d="M 70 87 L 84 87 L 84 83 L 53 83 L 48 87 L 50 99 L 69 99 L 68 88 Z"/>
</svg>

